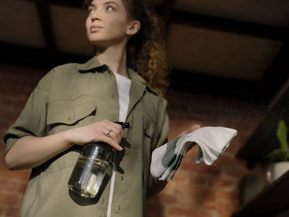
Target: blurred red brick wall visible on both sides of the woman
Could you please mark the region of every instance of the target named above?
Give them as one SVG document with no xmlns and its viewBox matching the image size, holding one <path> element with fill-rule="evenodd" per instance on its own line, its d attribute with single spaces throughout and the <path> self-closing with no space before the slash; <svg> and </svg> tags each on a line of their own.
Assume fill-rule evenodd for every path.
<svg viewBox="0 0 289 217">
<path fill-rule="evenodd" d="M 0 136 L 14 123 L 29 94 L 46 70 L 0 65 Z M 169 140 L 193 124 L 225 126 L 238 135 L 216 166 L 197 165 L 198 148 L 186 153 L 173 183 L 147 201 L 147 217 L 224 217 L 238 207 L 238 186 L 245 163 L 235 158 L 262 117 L 262 107 L 209 95 L 168 92 Z M 10 171 L 4 162 L 5 144 L 0 140 L 0 217 L 19 216 L 30 170 Z M 254 172 L 262 172 L 257 169 Z"/>
</svg>

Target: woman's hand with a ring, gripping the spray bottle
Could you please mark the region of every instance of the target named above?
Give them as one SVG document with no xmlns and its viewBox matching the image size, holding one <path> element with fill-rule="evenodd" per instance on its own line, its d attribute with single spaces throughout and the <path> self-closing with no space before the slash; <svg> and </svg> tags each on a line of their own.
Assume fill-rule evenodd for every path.
<svg viewBox="0 0 289 217">
<path fill-rule="evenodd" d="M 110 128 L 112 131 L 107 136 Z M 123 128 L 120 124 L 108 120 L 102 120 L 87 126 L 67 130 L 66 135 L 71 143 L 80 146 L 89 142 L 105 142 L 112 146 L 113 151 L 116 149 L 119 151 L 123 150 L 123 148 L 119 146 L 123 138 Z"/>
</svg>

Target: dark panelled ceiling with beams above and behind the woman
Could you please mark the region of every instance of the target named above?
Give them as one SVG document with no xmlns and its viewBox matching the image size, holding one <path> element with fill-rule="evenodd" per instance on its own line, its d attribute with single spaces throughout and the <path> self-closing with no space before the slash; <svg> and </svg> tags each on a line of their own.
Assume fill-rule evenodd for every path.
<svg viewBox="0 0 289 217">
<path fill-rule="evenodd" d="M 47 70 L 93 55 L 83 0 L 1 0 L 1 61 Z M 269 104 L 288 79 L 289 1 L 146 0 L 164 18 L 171 88 Z"/>
</svg>

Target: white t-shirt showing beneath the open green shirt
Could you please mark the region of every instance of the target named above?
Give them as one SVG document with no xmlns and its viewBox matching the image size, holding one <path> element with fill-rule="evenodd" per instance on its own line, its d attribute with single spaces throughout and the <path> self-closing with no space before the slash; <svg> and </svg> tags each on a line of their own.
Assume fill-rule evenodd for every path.
<svg viewBox="0 0 289 217">
<path fill-rule="evenodd" d="M 131 80 L 125 76 L 114 73 L 117 83 L 117 91 L 118 91 L 118 102 L 119 102 L 119 122 L 125 122 L 127 109 L 129 105 L 129 89 L 131 85 Z M 112 203 L 112 193 L 114 188 L 114 179 L 115 179 L 115 171 L 116 171 L 116 154 L 117 151 L 114 152 L 113 156 L 113 167 L 112 167 L 112 176 L 110 183 L 110 194 L 108 198 L 108 211 L 106 216 L 110 217 L 111 212 L 111 203 Z"/>
</svg>

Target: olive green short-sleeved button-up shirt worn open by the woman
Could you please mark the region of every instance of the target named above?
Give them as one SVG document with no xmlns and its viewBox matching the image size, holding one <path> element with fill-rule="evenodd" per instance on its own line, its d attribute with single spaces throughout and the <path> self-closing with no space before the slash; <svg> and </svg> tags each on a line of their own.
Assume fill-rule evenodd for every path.
<svg viewBox="0 0 289 217">
<path fill-rule="evenodd" d="M 129 107 L 117 154 L 111 216 L 144 216 L 152 151 L 166 143 L 167 102 L 134 71 Z M 108 119 L 118 121 L 116 79 L 96 57 L 84 64 L 52 69 L 38 83 L 18 119 L 4 134 L 6 153 L 21 137 L 43 137 Z M 39 144 L 41 146 L 41 144 Z M 112 163 L 95 198 L 83 198 L 67 187 L 82 146 L 73 146 L 33 168 L 23 198 L 21 216 L 105 217 Z"/>
</svg>

